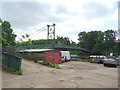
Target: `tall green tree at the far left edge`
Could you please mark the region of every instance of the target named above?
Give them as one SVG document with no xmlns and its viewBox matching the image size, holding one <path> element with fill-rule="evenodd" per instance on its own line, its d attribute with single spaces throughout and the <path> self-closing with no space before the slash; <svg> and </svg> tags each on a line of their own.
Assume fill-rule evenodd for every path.
<svg viewBox="0 0 120 90">
<path fill-rule="evenodd" d="M 1 23 L 2 26 L 2 46 L 15 45 L 15 38 L 17 35 L 14 34 L 9 22 L 4 21 Z"/>
</svg>

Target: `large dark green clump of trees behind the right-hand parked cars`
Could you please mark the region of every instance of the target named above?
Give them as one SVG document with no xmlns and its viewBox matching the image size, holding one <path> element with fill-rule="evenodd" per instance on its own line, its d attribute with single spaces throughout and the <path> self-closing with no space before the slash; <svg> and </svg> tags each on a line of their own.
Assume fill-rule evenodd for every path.
<svg viewBox="0 0 120 90">
<path fill-rule="evenodd" d="M 120 43 L 116 43 L 117 32 L 114 30 L 102 31 L 91 31 L 91 32 L 80 32 L 79 46 L 90 50 L 91 54 L 96 55 L 109 55 L 114 53 L 119 55 Z"/>
</svg>

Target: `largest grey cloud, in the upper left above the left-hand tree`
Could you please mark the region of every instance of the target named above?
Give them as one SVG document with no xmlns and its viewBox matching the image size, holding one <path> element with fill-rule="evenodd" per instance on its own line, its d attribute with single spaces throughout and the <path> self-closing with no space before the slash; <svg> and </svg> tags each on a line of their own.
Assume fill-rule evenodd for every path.
<svg viewBox="0 0 120 90">
<path fill-rule="evenodd" d="M 28 26 L 48 21 L 61 22 L 62 18 L 53 16 L 50 8 L 51 6 L 47 3 L 4 2 L 2 15 L 4 20 L 18 29 L 26 29 Z"/>
</svg>

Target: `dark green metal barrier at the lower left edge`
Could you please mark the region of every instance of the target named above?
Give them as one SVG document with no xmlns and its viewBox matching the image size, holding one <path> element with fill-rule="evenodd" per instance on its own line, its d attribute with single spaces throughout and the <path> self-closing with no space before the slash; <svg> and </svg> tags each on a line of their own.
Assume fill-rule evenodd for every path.
<svg viewBox="0 0 120 90">
<path fill-rule="evenodd" d="M 20 71 L 21 70 L 21 58 L 16 57 L 16 56 L 12 56 L 12 55 L 8 55 L 3 53 L 2 54 L 2 66 L 4 67 L 8 67 L 8 68 L 12 68 L 16 71 Z"/>
</svg>

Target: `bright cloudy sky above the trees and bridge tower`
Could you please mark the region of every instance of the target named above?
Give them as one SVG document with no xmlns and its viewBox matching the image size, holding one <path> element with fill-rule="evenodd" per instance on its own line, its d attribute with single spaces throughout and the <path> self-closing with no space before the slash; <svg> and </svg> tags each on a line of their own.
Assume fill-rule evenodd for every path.
<svg viewBox="0 0 120 90">
<path fill-rule="evenodd" d="M 56 36 L 78 42 L 83 31 L 118 30 L 119 0 L 2 0 L 2 20 L 10 22 L 16 40 L 47 39 L 47 25 L 56 24 Z M 40 31 L 43 28 L 43 31 Z"/>
</svg>

